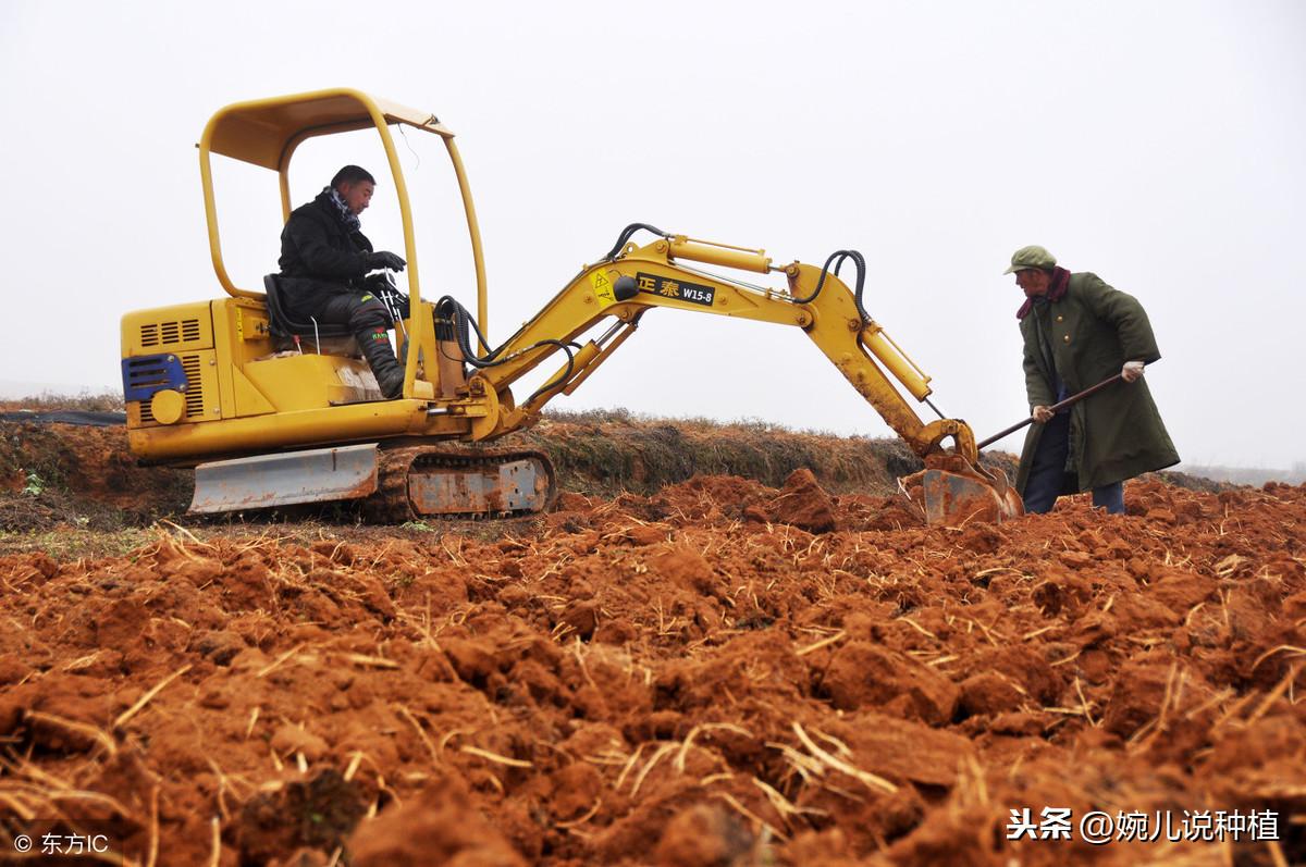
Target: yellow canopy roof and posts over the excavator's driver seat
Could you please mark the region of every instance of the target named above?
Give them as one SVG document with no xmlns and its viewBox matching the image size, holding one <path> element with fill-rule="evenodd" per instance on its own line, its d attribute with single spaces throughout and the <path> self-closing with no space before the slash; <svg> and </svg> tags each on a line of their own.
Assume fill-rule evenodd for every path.
<svg viewBox="0 0 1306 867">
<path fill-rule="evenodd" d="M 413 234 L 413 213 L 407 185 L 400 165 L 390 124 L 406 124 L 444 140 L 453 162 L 453 171 L 462 191 L 468 230 L 471 234 L 471 253 L 475 259 L 478 315 L 486 332 L 486 279 L 485 260 L 481 253 L 481 231 L 477 227 L 471 188 L 462 168 L 462 159 L 453 144 L 453 132 L 441 125 L 430 111 L 410 108 L 387 99 L 377 99 L 360 90 L 337 87 L 311 93 L 272 97 L 230 104 L 209 119 L 200 138 L 200 178 L 204 184 L 204 213 L 209 225 L 209 249 L 218 282 L 229 295 L 263 298 L 263 292 L 239 289 L 232 283 L 222 260 L 222 242 L 218 232 L 218 213 L 213 196 L 212 154 L 221 154 L 253 166 L 269 168 L 279 175 L 282 219 L 290 218 L 290 161 L 306 140 L 341 132 L 375 128 L 390 166 L 394 192 L 398 196 L 404 225 L 404 248 L 407 260 L 409 298 L 413 307 L 421 300 L 418 281 L 417 244 Z"/>
</svg>

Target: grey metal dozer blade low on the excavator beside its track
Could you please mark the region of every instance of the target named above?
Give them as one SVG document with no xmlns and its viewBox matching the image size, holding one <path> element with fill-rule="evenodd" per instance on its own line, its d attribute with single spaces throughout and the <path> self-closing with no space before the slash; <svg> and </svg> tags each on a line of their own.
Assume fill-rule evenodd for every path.
<svg viewBox="0 0 1306 867">
<path fill-rule="evenodd" d="M 376 443 L 213 461 L 195 467 L 191 512 L 353 500 L 376 491 Z"/>
</svg>

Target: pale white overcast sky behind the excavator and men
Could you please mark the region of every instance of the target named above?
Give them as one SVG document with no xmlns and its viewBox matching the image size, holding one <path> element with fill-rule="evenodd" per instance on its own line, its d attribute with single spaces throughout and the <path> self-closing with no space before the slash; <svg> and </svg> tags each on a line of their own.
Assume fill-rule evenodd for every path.
<svg viewBox="0 0 1306 867">
<path fill-rule="evenodd" d="M 1288 467 L 1306 460 L 1303 42 L 1297 0 L 0 0 L 0 379 L 118 386 L 123 312 L 221 294 L 208 118 L 354 86 L 458 133 L 492 342 L 629 222 L 777 261 L 853 247 L 871 315 L 983 437 L 1028 411 L 1002 270 L 1037 243 L 1143 302 L 1164 355 L 1147 377 L 1187 462 Z M 370 166 L 364 231 L 400 249 L 359 136 L 302 149 L 296 204 Z M 474 308 L 448 163 L 418 137 L 401 151 L 423 294 Z M 248 287 L 276 270 L 263 174 L 218 176 Z M 673 311 L 554 406 L 889 432 L 798 329 Z"/>
</svg>

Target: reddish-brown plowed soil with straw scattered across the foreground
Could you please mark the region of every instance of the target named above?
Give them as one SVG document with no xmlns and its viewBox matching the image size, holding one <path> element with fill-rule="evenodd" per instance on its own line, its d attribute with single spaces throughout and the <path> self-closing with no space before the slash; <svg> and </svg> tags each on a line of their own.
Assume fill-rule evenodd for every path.
<svg viewBox="0 0 1306 867">
<path fill-rule="evenodd" d="M 135 864 L 1306 862 L 1306 488 L 944 530 L 823 484 L 8 554 L 0 858 L 40 827 Z M 1091 811 L 1173 828 L 1093 845 Z M 1200 838 L 1252 811 L 1275 838 Z"/>
</svg>

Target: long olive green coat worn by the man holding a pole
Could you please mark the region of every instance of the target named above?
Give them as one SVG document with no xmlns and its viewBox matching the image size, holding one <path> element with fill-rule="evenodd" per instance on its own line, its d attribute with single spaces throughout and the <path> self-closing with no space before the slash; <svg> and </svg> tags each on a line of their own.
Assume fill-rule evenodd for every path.
<svg viewBox="0 0 1306 867">
<path fill-rule="evenodd" d="M 1059 300 L 1034 304 L 1020 320 L 1030 410 L 1057 402 L 1053 371 L 1040 347 L 1040 326 L 1067 396 L 1119 373 L 1124 362 L 1151 364 L 1161 358 L 1152 325 L 1138 299 L 1111 289 L 1097 274 L 1071 274 L 1070 286 Z M 1021 495 L 1042 431 L 1043 426 L 1034 423 L 1025 436 L 1016 475 L 1016 490 Z M 1145 376 L 1134 383 L 1117 383 L 1071 407 L 1070 461 L 1063 494 L 1091 491 L 1178 462 L 1179 454 L 1152 401 Z"/>
</svg>

